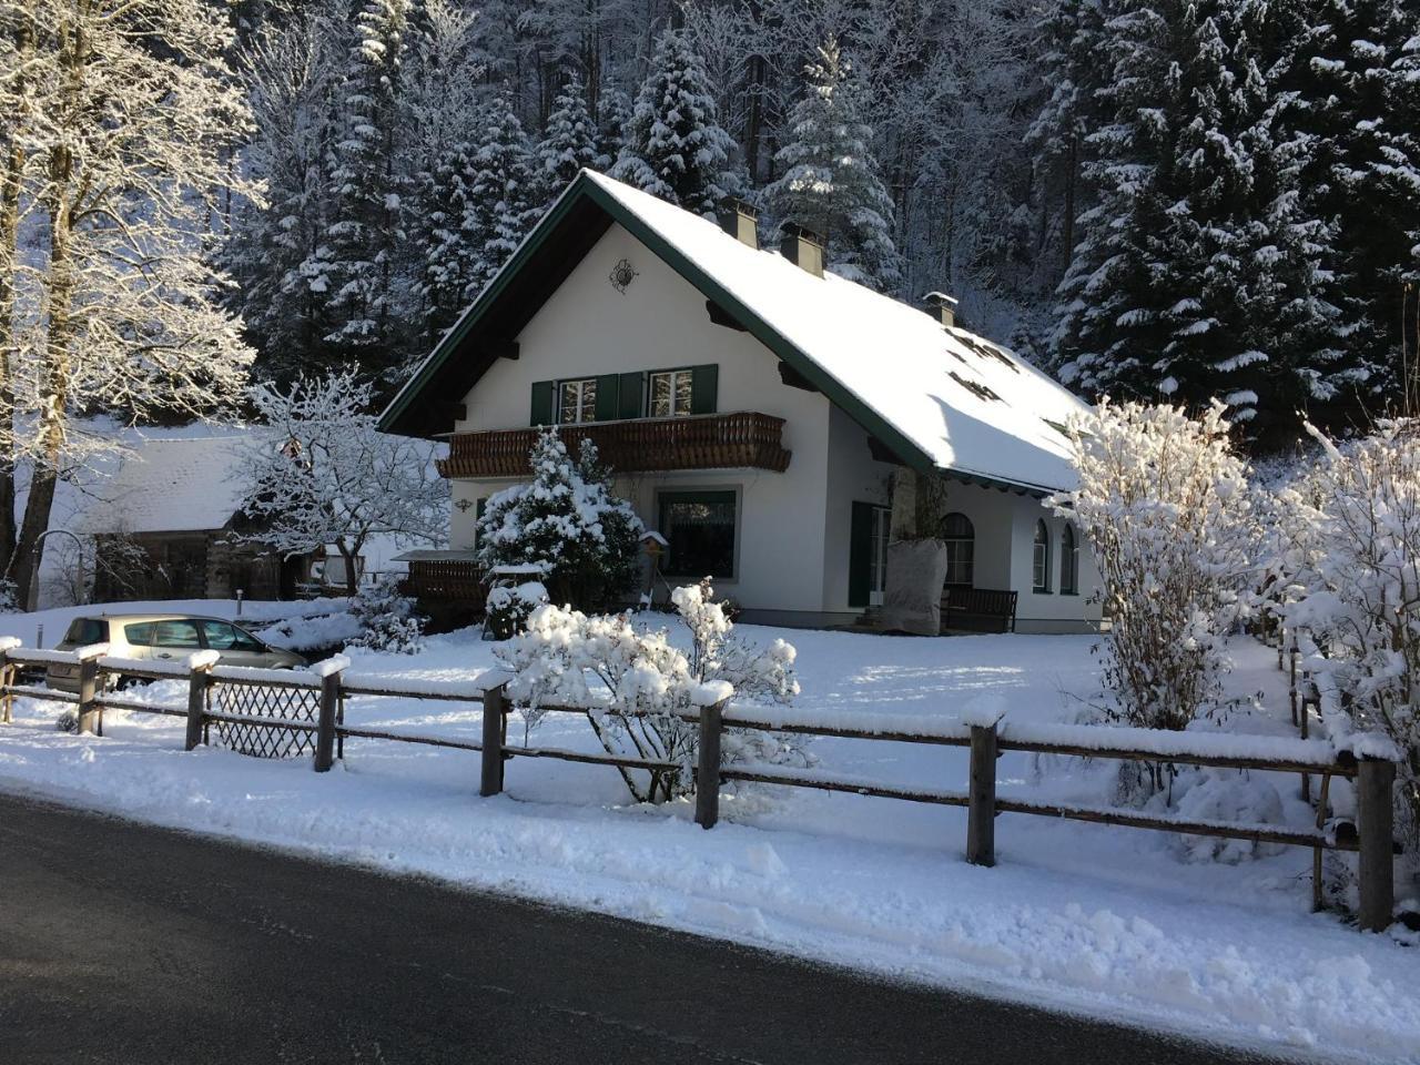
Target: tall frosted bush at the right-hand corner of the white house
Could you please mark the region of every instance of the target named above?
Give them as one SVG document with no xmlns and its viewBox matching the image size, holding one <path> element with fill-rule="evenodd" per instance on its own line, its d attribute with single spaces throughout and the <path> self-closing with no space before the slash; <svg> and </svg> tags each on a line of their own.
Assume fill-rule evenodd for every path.
<svg viewBox="0 0 1420 1065">
<path fill-rule="evenodd" d="M 1129 724 L 1184 728 L 1221 694 L 1252 535 L 1223 410 L 1106 400 L 1074 426 L 1079 488 L 1054 503 L 1099 564 L 1103 676 Z"/>
</svg>

